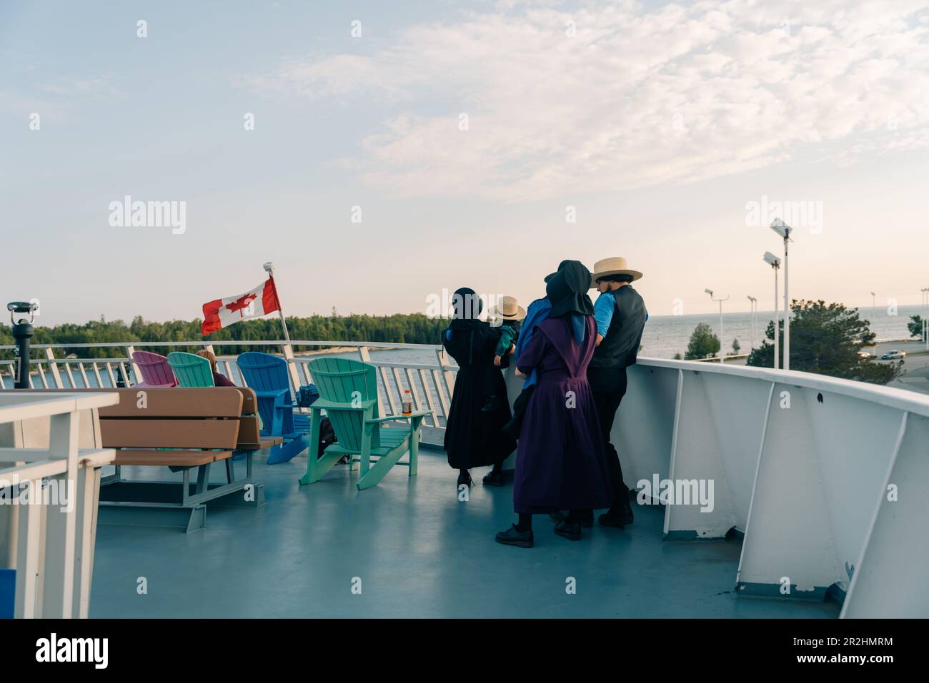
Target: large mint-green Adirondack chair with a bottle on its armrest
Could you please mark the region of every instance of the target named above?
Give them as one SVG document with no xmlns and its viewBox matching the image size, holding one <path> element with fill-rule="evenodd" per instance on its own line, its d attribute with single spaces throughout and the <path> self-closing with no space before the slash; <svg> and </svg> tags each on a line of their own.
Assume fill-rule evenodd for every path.
<svg viewBox="0 0 929 683">
<path fill-rule="evenodd" d="M 308 364 L 320 398 L 310 406 L 307 473 L 300 483 L 320 481 L 343 456 L 360 462 L 359 489 L 371 488 L 384 479 L 394 465 L 409 467 L 416 473 L 419 439 L 423 418 L 431 410 L 417 410 L 412 415 L 381 418 L 378 415 L 377 376 L 372 365 L 348 358 L 318 358 Z M 320 419 L 326 411 L 338 441 L 326 448 L 317 459 L 313 444 L 320 443 Z M 383 427 L 385 422 L 410 420 L 409 429 Z M 399 462 L 410 453 L 409 462 Z"/>
</svg>

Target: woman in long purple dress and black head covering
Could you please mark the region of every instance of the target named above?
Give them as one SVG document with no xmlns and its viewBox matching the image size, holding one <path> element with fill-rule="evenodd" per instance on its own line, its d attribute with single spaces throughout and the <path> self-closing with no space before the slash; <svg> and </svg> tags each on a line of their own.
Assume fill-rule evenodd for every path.
<svg viewBox="0 0 929 683">
<path fill-rule="evenodd" d="M 576 541 L 586 510 L 608 508 L 612 500 L 586 374 L 596 343 L 594 304 L 587 296 L 590 278 L 580 262 L 562 264 L 545 290 L 551 315 L 517 360 L 524 374 L 536 369 L 539 382 L 519 434 L 513 491 L 519 521 L 497 534 L 498 543 L 531 548 L 532 515 L 562 509 L 569 509 L 569 515 L 555 533 Z"/>
</svg>

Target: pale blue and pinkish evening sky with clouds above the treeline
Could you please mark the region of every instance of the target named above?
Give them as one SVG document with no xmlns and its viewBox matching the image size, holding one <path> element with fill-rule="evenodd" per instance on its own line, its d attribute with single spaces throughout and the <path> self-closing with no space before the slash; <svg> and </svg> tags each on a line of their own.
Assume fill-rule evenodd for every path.
<svg viewBox="0 0 929 683">
<path fill-rule="evenodd" d="M 623 256 L 652 315 L 771 310 L 784 217 L 792 298 L 918 304 L 927 35 L 907 0 L 0 0 L 0 298 L 192 319 L 272 261 L 289 316 L 425 313 Z"/>
</svg>

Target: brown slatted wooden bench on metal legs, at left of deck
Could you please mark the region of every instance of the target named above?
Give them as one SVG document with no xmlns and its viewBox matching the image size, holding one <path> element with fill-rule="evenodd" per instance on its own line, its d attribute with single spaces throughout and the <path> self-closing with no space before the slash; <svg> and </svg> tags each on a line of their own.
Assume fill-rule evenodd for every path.
<svg viewBox="0 0 929 683">
<path fill-rule="evenodd" d="M 46 390 L 32 390 L 46 391 Z M 115 448 L 116 472 L 101 481 L 100 523 L 176 526 L 190 532 L 206 522 L 205 504 L 259 507 L 264 485 L 252 480 L 255 451 L 281 443 L 260 435 L 255 392 L 238 387 L 86 389 L 118 393 L 119 404 L 99 409 L 99 437 Z M 244 457 L 236 478 L 234 458 Z M 225 483 L 210 483 L 222 463 Z M 170 467 L 181 481 L 129 480 L 124 467 Z M 190 478 L 196 469 L 196 481 Z M 157 514 L 152 513 L 157 509 Z"/>
</svg>

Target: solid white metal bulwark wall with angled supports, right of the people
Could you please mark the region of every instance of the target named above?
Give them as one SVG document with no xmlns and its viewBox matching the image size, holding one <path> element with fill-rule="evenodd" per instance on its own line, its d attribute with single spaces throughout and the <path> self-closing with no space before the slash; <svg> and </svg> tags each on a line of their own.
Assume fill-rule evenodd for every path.
<svg viewBox="0 0 929 683">
<path fill-rule="evenodd" d="M 929 395 L 640 359 L 612 441 L 630 486 L 713 482 L 713 509 L 666 505 L 664 531 L 744 534 L 739 594 L 837 587 L 844 617 L 929 617 Z"/>
</svg>

